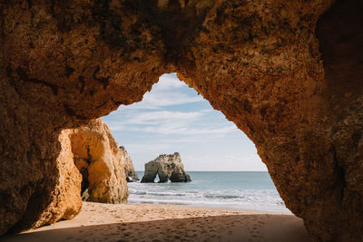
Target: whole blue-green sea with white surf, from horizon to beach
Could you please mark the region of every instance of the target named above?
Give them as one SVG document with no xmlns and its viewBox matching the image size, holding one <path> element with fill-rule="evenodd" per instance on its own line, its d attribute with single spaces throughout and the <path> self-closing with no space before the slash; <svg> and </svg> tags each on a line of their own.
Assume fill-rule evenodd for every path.
<svg viewBox="0 0 363 242">
<path fill-rule="evenodd" d="M 136 172 L 142 179 L 143 171 Z M 265 171 L 187 171 L 191 182 L 129 183 L 129 202 L 290 214 Z"/>
</svg>

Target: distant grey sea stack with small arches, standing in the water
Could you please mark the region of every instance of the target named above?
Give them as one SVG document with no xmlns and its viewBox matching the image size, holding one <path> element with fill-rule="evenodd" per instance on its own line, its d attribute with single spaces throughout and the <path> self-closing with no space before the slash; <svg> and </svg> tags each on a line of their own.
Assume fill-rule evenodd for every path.
<svg viewBox="0 0 363 242">
<path fill-rule="evenodd" d="M 160 155 L 155 160 L 145 164 L 145 172 L 142 177 L 142 183 L 154 182 L 156 175 L 159 176 L 159 182 L 188 182 L 191 177 L 185 173 L 182 165 L 182 158 L 178 152 L 172 155 Z"/>
</svg>

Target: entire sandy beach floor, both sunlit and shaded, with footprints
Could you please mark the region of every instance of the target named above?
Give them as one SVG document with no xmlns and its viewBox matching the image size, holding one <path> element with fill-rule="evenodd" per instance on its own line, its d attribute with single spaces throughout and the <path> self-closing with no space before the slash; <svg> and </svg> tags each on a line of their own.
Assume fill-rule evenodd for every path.
<svg viewBox="0 0 363 242">
<path fill-rule="evenodd" d="M 293 215 L 182 205 L 84 202 L 80 215 L 1 241 L 310 241 Z"/>
</svg>

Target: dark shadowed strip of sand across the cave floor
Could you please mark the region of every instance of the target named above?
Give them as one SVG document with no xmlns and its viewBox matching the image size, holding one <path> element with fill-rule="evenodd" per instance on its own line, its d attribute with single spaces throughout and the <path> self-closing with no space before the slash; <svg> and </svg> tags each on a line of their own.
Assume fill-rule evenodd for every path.
<svg viewBox="0 0 363 242">
<path fill-rule="evenodd" d="M 49 229 L 48 229 L 49 228 Z M 37 231 L 37 230 L 42 231 Z M 1 241 L 310 241 L 292 215 L 249 214 L 174 218 L 82 227 L 42 227 Z"/>
</svg>

